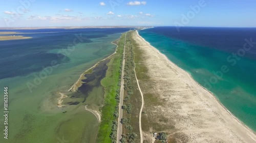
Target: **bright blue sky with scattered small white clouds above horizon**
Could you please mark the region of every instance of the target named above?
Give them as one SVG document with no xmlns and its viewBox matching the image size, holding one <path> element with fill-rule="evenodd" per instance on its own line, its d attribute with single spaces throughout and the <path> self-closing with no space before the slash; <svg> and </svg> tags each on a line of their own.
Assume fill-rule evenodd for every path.
<svg viewBox="0 0 256 143">
<path fill-rule="evenodd" d="M 256 27 L 255 0 L 0 0 L 0 27 Z"/>
</svg>

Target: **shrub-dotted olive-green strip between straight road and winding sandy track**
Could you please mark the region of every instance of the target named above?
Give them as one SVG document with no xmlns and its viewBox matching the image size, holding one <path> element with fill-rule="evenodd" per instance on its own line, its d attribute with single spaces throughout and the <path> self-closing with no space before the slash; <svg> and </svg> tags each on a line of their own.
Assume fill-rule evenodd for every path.
<svg viewBox="0 0 256 143">
<path fill-rule="evenodd" d="M 137 81 L 135 78 L 135 63 L 134 63 L 134 49 L 137 48 L 136 41 L 132 34 L 134 31 L 126 34 L 125 46 L 125 66 L 124 66 L 124 104 L 123 118 L 123 132 L 121 142 L 140 142 L 139 131 L 139 112 L 141 106 L 141 96 L 138 90 Z"/>
</svg>

